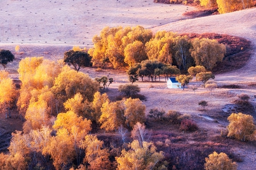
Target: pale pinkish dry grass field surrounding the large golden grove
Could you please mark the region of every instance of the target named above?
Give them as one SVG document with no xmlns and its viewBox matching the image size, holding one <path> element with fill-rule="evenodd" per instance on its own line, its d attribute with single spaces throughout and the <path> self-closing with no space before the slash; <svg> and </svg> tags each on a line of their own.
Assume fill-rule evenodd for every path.
<svg viewBox="0 0 256 170">
<path fill-rule="evenodd" d="M 63 53 L 73 45 L 81 48 L 92 47 L 92 37 L 98 35 L 102 28 L 118 25 L 142 25 L 156 32 L 159 30 L 178 33 L 214 32 L 243 37 L 253 45 L 253 56 L 242 69 L 217 74 L 218 86 L 236 84 L 239 89 L 217 88 L 213 94 L 192 81 L 198 89 L 168 89 L 164 79 L 160 82 L 135 82 L 141 87 L 141 94 L 146 96 L 143 104 L 146 112 L 152 108 L 163 108 L 165 111 L 175 110 L 191 114 L 199 125 L 200 131 L 217 137 L 224 130 L 228 121 L 230 104 L 237 95 L 247 94 L 255 106 L 256 99 L 256 8 L 232 12 L 230 14 L 205 16 L 189 19 L 182 14 L 195 10 L 183 5 L 164 5 L 147 1 L 39 1 L 39 0 L 2 0 L 0 7 L 0 48 L 15 53 L 15 45 L 20 45 L 20 54 L 15 54 L 15 61 L 7 65 L 7 70 L 14 79 L 18 79 L 16 69 L 18 62 L 24 57 L 44 56 L 56 60 L 63 58 Z M 81 69 L 92 78 L 108 75 L 114 78 L 108 94 L 112 99 L 118 94 L 120 84 L 128 83 L 125 71 Z M 251 85 L 251 84 L 254 84 Z M 201 111 L 199 101 L 208 101 L 208 107 Z M 255 111 L 251 114 L 256 120 Z M 3 116 L 1 116 L 1 120 Z M 10 119 L 11 121 L 11 119 Z M 1 129 L 7 129 L 6 121 L 1 121 Z M 19 127 L 20 128 L 20 127 Z M 156 127 L 156 129 L 161 127 Z M 193 141 L 189 141 L 193 143 Z M 238 154 L 243 162 L 238 169 L 254 169 L 256 167 L 256 146 L 254 143 L 234 145 L 232 151 Z"/>
</svg>

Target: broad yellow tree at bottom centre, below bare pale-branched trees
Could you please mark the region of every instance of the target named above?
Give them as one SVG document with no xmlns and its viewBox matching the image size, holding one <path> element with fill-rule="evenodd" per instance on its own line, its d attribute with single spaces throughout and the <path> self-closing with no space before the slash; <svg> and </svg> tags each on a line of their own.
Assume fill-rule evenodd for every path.
<svg viewBox="0 0 256 170">
<path fill-rule="evenodd" d="M 122 150 L 122 154 L 115 158 L 117 169 L 154 169 L 160 167 L 160 160 L 164 158 L 163 151 L 157 152 L 153 143 L 143 142 L 139 145 L 137 140 L 130 145 L 130 150 Z"/>
</svg>

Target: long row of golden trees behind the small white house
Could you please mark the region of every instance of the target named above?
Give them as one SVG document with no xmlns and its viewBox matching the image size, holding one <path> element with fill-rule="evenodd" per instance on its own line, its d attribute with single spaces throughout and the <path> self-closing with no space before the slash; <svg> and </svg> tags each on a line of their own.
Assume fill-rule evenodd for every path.
<svg viewBox="0 0 256 170">
<path fill-rule="evenodd" d="M 109 63 L 114 68 L 131 67 L 145 60 L 159 61 L 187 71 L 201 65 L 208 70 L 221 62 L 226 47 L 216 40 L 189 39 L 173 32 L 137 27 L 105 27 L 93 37 L 94 47 L 88 50 L 94 66 Z"/>
</svg>

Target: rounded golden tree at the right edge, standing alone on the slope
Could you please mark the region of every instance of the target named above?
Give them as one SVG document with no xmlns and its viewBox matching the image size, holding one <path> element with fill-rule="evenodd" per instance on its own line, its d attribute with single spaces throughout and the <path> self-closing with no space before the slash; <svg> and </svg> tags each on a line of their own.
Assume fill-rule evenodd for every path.
<svg viewBox="0 0 256 170">
<path fill-rule="evenodd" d="M 255 138 L 255 125 L 253 116 L 243 113 L 232 113 L 228 117 L 228 137 L 234 137 L 243 142 Z"/>
</svg>

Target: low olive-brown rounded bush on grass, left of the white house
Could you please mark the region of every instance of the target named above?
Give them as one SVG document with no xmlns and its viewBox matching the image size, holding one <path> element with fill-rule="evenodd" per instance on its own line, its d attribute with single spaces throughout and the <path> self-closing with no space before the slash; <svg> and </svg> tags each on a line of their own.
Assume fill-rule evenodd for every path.
<svg viewBox="0 0 256 170">
<path fill-rule="evenodd" d="M 141 91 L 141 88 L 139 88 L 138 84 L 121 84 L 118 86 L 118 91 L 126 95 L 127 97 L 134 97 Z"/>
</svg>

